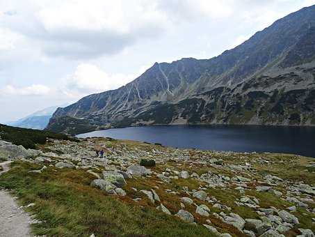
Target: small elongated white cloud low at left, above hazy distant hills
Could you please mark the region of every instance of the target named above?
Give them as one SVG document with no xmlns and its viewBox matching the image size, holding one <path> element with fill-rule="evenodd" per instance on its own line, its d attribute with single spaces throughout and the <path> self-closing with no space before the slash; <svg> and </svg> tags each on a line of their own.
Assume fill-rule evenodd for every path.
<svg viewBox="0 0 315 237">
<path fill-rule="evenodd" d="M 16 87 L 8 84 L 0 89 L 2 95 L 48 95 L 50 91 L 47 86 L 40 84 L 25 87 Z"/>
</svg>

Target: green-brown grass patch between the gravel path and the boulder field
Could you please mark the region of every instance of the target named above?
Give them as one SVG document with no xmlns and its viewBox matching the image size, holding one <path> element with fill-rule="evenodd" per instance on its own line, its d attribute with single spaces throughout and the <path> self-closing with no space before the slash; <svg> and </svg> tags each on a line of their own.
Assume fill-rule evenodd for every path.
<svg viewBox="0 0 315 237">
<path fill-rule="evenodd" d="M 198 225 L 182 222 L 150 206 L 135 206 L 90 187 L 94 178 L 83 170 L 48 168 L 28 173 L 38 165 L 13 162 L 0 177 L 0 186 L 14 190 L 41 224 L 35 235 L 47 236 L 211 236 Z"/>
</svg>

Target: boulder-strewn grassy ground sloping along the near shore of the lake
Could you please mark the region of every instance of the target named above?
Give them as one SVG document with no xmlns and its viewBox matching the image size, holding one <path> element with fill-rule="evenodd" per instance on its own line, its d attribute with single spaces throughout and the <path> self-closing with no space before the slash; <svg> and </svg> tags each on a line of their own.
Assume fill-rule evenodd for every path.
<svg viewBox="0 0 315 237">
<path fill-rule="evenodd" d="M 105 150 L 104 158 L 96 157 L 100 149 Z M 313 158 L 99 138 L 50 140 L 40 151 L 2 142 L 0 159 L 5 158 L 38 165 L 28 171 L 38 176 L 64 169 L 85 171 L 94 177 L 90 186 L 106 195 L 156 208 L 208 229 L 209 236 L 314 236 Z M 140 166 L 143 158 L 155 160 L 155 167 Z"/>
</svg>

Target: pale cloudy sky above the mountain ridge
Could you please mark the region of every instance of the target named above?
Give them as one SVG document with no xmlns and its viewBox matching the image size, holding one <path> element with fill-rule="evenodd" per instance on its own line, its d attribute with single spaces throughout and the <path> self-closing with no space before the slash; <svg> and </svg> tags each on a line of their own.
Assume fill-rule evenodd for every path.
<svg viewBox="0 0 315 237">
<path fill-rule="evenodd" d="M 0 0 L 0 123 L 210 59 L 315 0 Z"/>
</svg>

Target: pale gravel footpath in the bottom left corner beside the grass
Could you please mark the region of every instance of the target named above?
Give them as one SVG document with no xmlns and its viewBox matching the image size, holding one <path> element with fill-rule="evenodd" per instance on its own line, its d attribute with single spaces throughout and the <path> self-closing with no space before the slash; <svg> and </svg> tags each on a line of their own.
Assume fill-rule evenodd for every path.
<svg viewBox="0 0 315 237">
<path fill-rule="evenodd" d="M 10 169 L 10 162 L 0 163 L 1 174 Z M 19 208 L 15 199 L 6 191 L 0 190 L 0 237 L 32 236 L 31 217 Z"/>
</svg>

